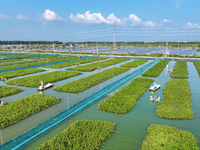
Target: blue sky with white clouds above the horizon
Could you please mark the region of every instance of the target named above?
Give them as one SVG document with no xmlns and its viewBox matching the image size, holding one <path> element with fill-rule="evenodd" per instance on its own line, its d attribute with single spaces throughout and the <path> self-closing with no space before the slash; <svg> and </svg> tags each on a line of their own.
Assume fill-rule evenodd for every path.
<svg viewBox="0 0 200 150">
<path fill-rule="evenodd" d="M 0 40 L 200 41 L 199 0 L 1 0 Z"/>
</svg>

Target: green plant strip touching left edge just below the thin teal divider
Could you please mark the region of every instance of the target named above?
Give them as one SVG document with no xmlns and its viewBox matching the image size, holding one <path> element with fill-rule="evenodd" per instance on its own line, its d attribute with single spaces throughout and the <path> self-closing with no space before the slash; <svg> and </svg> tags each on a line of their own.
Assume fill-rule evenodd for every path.
<svg viewBox="0 0 200 150">
<path fill-rule="evenodd" d="M 18 77 L 18 76 L 24 76 L 27 74 L 33 74 L 37 72 L 45 71 L 44 69 L 36 69 L 36 68 L 29 68 L 29 69 L 23 69 L 23 70 L 16 70 L 16 71 L 9 71 L 0 73 L 0 77 L 5 77 L 7 79 Z"/>
</svg>

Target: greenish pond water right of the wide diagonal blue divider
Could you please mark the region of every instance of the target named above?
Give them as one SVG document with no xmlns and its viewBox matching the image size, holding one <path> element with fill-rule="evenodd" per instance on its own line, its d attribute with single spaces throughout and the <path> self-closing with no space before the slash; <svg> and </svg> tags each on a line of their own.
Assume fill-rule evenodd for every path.
<svg viewBox="0 0 200 150">
<path fill-rule="evenodd" d="M 174 65 L 175 62 L 173 61 L 169 62 L 169 68 L 173 68 Z M 142 141 L 145 138 L 146 130 L 151 124 L 163 124 L 163 125 L 173 126 L 181 130 L 188 130 L 200 140 L 200 130 L 199 130 L 200 94 L 198 92 L 198 90 L 200 89 L 200 85 L 198 84 L 200 80 L 193 63 L 188 62 L 187 65 L 189 72 L 188 81 L 190 82 L 190 88 L 192 93 L 191 99 L 192 99 L 192 108 L 194 111 L 194 119 L 168 120 L 168 119 L 158 118 L 157 115 L 155 114 L 156 103 L 150 103 L 149 97 L 151 93 L 149 91 L 146 91 L 142 95 L 142 97 L 137 101 L 132 111 L 125 115 L 116 115 L 97 110 L 97 106 L 101 101 L 105 100 L 107 97 L 114 94 L 117 90 L 119 90 L 120 88 L 131 82 L 128 81 L 121 87 L 115 89 L 113 92 L 105 96 L 100 101 L 96 102 L 86 110 L 82 111 L 75 117 L 63 123 L 61 126 L 49 132 L 47 135 L 43 136 L 42 138 L 32 143 L 29 147 L 27 147 L 27 149 L 35 149 L 39 147 L 42 143 L 51 139 L 53 136 L 55 136 L 56 134 L 67 128 L 70 123 L 82 119 L 105 120 L 116 123 L 115 132 L 113 133 L 111 138 L 109 138 L 105 142 L 105 145 L 103 145 L 101 148 L 104 150 L 139 149 L 141 147 Z M 138 75 L 135 78 L 137 77 L 141 77 L 141 75 Z M 159 82 L 162 86 L 161 89 L 157 91 L 157 94 L 158 96 L 161 97 L 162 101 L 163 98 L 162 91 L 167 81 L 170 79 L 169 73 L 167 73 L 167 70 L 165 68 L 160 74 L 160 76 L 152 79 L 154 79 L 156 82 Z M 200 146 L 199 143 L 198 145 Z"/>
</svg>

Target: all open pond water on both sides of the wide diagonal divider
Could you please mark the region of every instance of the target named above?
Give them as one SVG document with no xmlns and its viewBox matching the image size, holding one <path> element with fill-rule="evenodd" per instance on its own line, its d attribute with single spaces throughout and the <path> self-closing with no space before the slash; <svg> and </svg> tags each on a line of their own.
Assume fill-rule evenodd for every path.
<svg viewBox="0 0 200 150">
<path fill-rule="evenodd" d="M 107 70 L 110 68 L 115 67 L 120 67 L 120 65 L 131 62 L 132 60 L 128 60 L 119 64 L 115 64 L 109 67 L 105 67 L 102 70 Z M 153 60 L 149 60 L 147 63 L 152 62 Z M 169 68 L 174 67 L 176 62 L 170 61 L 168 63 Z M 10 127 L 7 127 L 2 130 L 2 135 L 3 135 L 3 141 L 8 141 L 17 135 L 27 131 L 28 129 L 34 127 L 35 125 L 43 122 L 44 120 L 48 119 L 49 117 L 55 115 L 56 113 L 70 107 L 71 105 L 75 104 L 76 102 L 82 100 L 83 98 L 88 97 L 89 95 L 99 91 L 100 89 L 110 85 L 111 83 L 121 79 L 122 77 L 134 72 L 135 70 L 138 70 L 141 68 L 143 65 L 140 65 L 136 68 L 131 68 L 129 71 L 126 71 L 116 77 L 113 77 L 103 83 L 100 83 L 98 85 L 93 86 L 92 88 L 89 88 L 83 92 L 80 92 L 79 94 L 71 94 L 71 93 L 63 93 L 63 92 L 58 92 L 51 89 L 48 89 L 44 91 L 45 95 L 49 96 L 54 96 L 58 97 L 61 99 L 61 101 L 54 105 L 53 107 L 50 107 L 46 110 L 41 111 L 40 113 L 34 114 L 30 117 L 28 117 L 25 120 L 20 121 L 19 123 L 12 125 Z M 71 66 L 70 66 L 71 67 Z M 61 69 L 48 69 L 45 72 L 37 73 L 37 74 L 43 74 L 49 71 L 53 70 L 59 70 L 59 71 L 64 71 L 67 68 L 70 67 L 64 67 Z M 26 149 L 36 149 L 39 148 L 45 141 L 48 141 L 52 139 L 56 134 L 64 131 L 70 124 L 75 122 L 76 120 L 101 120 L 101 121 L 109 121 L 111 123 L 115 123 L 115 130 L 114 133 L 112 133 L 111 137 L 108 138 L 105 141 L 105 144 L 101 146 L 101 149 L 105 150 L 121 150 L 121 149 L 140 149 L 142 142 L 145 139 L 146 131 L 147 128 L 151 124 L 162 124 L 162 125 L 169 125 L 170 127 L 176 127 L 177 129 L 180 130 L 188 130 L 191 132 L 195 137 L 200 139 L 200 130 L 199 130 L 199 123 L 200 123 L 200 101 L 199 99 L 199 89 L 200 89 L 200 79 L 198 72 L 192 62 L 187 62 L 187 70 L 189 73 L 189 78 L 186 79 L 189 82 L 189 86 L 191 89 L 191 100 L 192 100 L 192 109 L 194 112 L 193 119 L 188 119 L 188 120 L 169 120 L 169 119 L 162 119 L 159 118 L 156 115 L 156 107 L 157 103 L 152 102 L 150 103 L 150 96 L 151 92 L 146 90 L 146 92 L 141 96 L 140 99 L 137 100 L 137 103 L 133 107 L 133 109 L 128 112 L 127 114 L 112 114 L 112 113 L 107 113 L 103 112 L 101 110 L 98 110 L 98 105 L 100 102 L 104 101 L 114 93 L 116 93 L 118 90 L 120 90 L 122 87 L 130 84 L 133 79 L 142 77 L 141 74 L 137 75 L 134 77 L 132 80 L 129 80 L 125 84 L 121 85 L 117 89 L 113 90 L 111 93 L 107 94 L 104 98 L 93 104 L 92 106 L 88 107 L 81 113 L 77 114 L 76 116 L 72 117 L 71 119 L 65 121 L 63 124 L 58 126 L 57 128 L 53 129 L 51 132 L 47 133 L 43 137 L 39 138 L 35 142 L 33 142 L 31 145 L 26 147 Z M 148 68 L 149 69 L 149 68 Z M 146 70 L 148 70 L 146 69 Z M 54 87 L 63 85 L 65 83 L 68 83 L 70 81 L 74 81 L 83 77 L 87 77 L 89 75 L 95 74 L 100 72 L 99 70 L 95 70 L 92 72 L 82 72 L 81 75 L 75 76 L 69 79 L 65 79 L 62 81 L 58 81 L 54 83 Z M 144 71 L 145 72 L 145 71 Z M 156 91 L 156 94 L 161 97 L 161 101 L 163 99 L 163 89 L 165 88 L 166 83 L 169 81 L 170 78 L 170 72 L 167 72 L 167 68 L 164 68 L 160 75 L 158 77 L 145 77 L 148 79 L 153 79 L 157 83 L 161 84 L 161 88 Z M 28 75 L 29 76 L 29 75 Z M 23 76 L 24 77 L 24 76 Z M 21 77 L 17 77 L 21 78 Z M 15 79 L 15 78 L 14 78 Z M 1 83 L 2 85 L 6 85 L 5 83 Z M 37 88 L 26 88 L 26 87 L 19 87 L 22 88 L 24 91 L 16 94 L 14 96 L 8 97 L 9 101 L 13 101 L 19 98 L 23 98 L 32 94 L 37 94 L 38 92 L 36 91 Z M 198 146 L 200 144 L 198 143 Z"/>
</svg>

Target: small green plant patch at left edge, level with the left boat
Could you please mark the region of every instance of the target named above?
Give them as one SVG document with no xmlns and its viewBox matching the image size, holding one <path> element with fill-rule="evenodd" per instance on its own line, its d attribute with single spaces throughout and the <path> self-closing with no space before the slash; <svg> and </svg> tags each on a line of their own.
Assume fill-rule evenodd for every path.
<svg viewBox="0 0 200 150">
<path fill-rule="evenodd" d="M 16 87 L 2 86 L 0 85 L 0 98 L 5 96 L 14 95 L 22 92 L 22 89 Z"/>
</svg>

